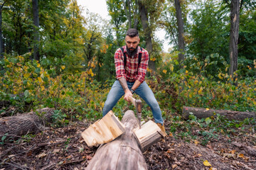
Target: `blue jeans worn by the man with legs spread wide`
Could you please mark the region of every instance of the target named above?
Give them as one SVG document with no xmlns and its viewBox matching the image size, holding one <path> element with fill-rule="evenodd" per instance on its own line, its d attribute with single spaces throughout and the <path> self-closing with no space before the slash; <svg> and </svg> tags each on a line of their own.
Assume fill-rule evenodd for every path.
<svg viewBox="0 0 256 170">
<path fill-rule="evenodd" d="M 131 89 L 134 82 L 127 82 L 128 88 Z M 164 123 L 164 120 L 161 116 L 161 109 L 159 103 L 157 103 L 156 98 L 154 97 L 153 92 L 149 86 L 144 81 L 139 87 L 134 91 L 135 94 L 138 94 L 146 103 L 150 106 L 151 111 L 154 116 L 155 123 Z M 103 116 L 105 116 L 112 108 L 115 106 L 119 98 L 124 95 L 124 89 L 122 89 L 121 84 L 118 80 L 114 81 L 110 93 L 107 95 L 107 100 L 103 108 Z"/>
</svg>

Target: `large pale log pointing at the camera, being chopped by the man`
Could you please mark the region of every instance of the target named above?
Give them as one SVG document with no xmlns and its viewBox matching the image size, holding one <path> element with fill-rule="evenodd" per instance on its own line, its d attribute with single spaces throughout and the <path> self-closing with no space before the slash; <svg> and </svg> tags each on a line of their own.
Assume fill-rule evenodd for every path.
<svg viewBox="0 0 256 170">
<path fill-rule="evenodd" d="M 133 132 L 134 128 L 139 127 L 134 112 L 124 113 L 122 123 L 125 126 L 125 132 L 112 142 L 101 145 L 86 169 L 147 169 L 142 148 Z"/>
</svg>

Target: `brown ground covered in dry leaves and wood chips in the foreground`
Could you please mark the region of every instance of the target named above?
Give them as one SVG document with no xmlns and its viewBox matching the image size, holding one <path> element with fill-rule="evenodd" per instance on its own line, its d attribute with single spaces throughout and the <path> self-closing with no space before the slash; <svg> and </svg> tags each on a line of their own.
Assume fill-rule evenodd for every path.
<svg viewBox="0 0 256 170">
<path fill-rule="evenodd" d="M 85 169 L 97 147 L 89 148 L 81 132 L 90 123 L 46 128 L 34 137 L 0 145 L 0 170 Z M 169 123 L 166 122 L 168 132 Z M 219 136 L 208 145 L 168 136 L 144 152 L 148 169 L 256 169 L 255 135 Z"/>
</svg>

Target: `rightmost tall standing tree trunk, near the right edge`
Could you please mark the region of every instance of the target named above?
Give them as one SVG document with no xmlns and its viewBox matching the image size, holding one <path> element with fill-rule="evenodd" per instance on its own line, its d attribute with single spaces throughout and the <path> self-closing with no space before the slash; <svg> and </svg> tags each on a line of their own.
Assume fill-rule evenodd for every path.
<svg viewBox="0 0 256 170">
<path fill-rule="evenodd" d="M 229 74 L 238 70 L 239 0 L 231 1 L 230 10 L 230 69 Z"/>
</svg>

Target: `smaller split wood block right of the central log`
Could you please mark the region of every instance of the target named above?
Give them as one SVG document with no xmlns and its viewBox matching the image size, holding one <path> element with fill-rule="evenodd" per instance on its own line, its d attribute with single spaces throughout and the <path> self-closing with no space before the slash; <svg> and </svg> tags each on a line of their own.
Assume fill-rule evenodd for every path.
<svg viewBox="0 0 256 170">
<path fill-rule="evenodd" d="M 152 120 L 142 125 L 141 129 L 134 129 L 134 133 L 142 146 L 142 151 L 146 151 L 146 149 L 154 145 L 154 143 L 159 142 L 163 136 L 163 132 L 161 132 L 159 126 Z"/>
</svg>

